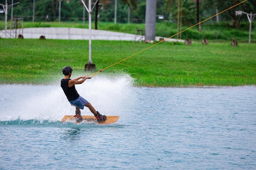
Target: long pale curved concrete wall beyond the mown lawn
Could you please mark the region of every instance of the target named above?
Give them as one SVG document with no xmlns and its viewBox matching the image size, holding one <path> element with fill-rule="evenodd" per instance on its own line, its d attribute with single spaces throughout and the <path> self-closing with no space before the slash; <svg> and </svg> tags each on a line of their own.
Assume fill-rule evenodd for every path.
<svg viewBox="0 0 256 170">
<path fill-rule="evenodd" d="M 8 30 L 7 30 L 8 31 Z M 129 33 L 119 33 L 113 31 L 95 30 L 92 29 L 92 40 L 122 40 L 122 41 L 133 41 L 135 39 L 135 34 Z M 21 30 L 17 31 L 22 33 Z M 23 38 L 25 39 L 39 39 L 41 35 L 45 36 L 45 39 L 60 39 L 60 40 L 89 40 L 89 29 L 81 28 L 65 28 L 65 27 L 39 27 L 39 28 L 25 28 L 23 29 Z M 1 38 L 10 38 L 5 35 L 4 30 L 0 31 Z M 18 35 L 17 35 L 18 37 Z M 159 38 L 155 37 L 156 41 Z M 144 41 L 144 36 L 142 37 Z M 164 38 L 166 39 L 166 38 Z M 137 41 L 139 40 L 139 35 L 137 36 Z M 168 39 L 166 41 L 173 42 L 176 39 Z M 184 42 L 183 40 L 179 40 Z"/>
</svg>

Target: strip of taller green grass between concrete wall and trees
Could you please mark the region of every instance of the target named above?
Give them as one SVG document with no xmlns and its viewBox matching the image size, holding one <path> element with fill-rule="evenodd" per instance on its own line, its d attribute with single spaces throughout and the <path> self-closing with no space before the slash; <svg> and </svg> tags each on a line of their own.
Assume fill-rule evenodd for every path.
<svg viewBox="0 0 256 170">
<path fill-rule="evenodd" d="M 4 22 L 0 22 L 4 25 Z M 86 28 L 88 24 L 82 24 L 81 22 L 24 22 L 24 28 L 31 27 L 73 27 L 73 28 Z M 198 31 L 197 26 L 184 31 L 182 33 L 182 39 L 190 38 L 192 40 L 202 40 L 207 38 L 208 40 L 236 40 L 247 41 L 249 39 L 249 26 L 246 22 L 241 23 L 240 28 L 229 28 L 224 22 L 213 23 L 202 23 L 202 32 Z M 188 27 L 183 26 L 182 30 Z M 92 23 L 92 29 L 94 29 L 94 23 Z M 117 31 L 123 33 L 135 34 L 137 29 L 145 29 L 145 24 L 114 24 L 113 22 L 99 22 L 98 29 L 107 31 Z M 251 42 L 256 42 L 256 27 L 255 23 L 252 23 Z M 161 22 L 156 24 L 156 36 L 159 37 L 171 37 L 177 33 L 177 25 L 169 22 Z M 176 37 L 173 37 L 176 38 Z"/>
</svg>

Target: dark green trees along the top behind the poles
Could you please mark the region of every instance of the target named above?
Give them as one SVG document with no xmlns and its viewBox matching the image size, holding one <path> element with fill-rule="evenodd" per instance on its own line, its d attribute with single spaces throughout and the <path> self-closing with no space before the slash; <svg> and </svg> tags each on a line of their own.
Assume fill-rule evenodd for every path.
<svg viewBox="0 0 256 170">
<path fill-rule="evenodd" d="M 5 4 L 2 0 L 2 4 Z M 13 6 L 13 17 L 23 18 L 24 21 L 32 21 L 33 9 L 35 22 L 58 21 L 58 0 L 7 0 L 8 5 L 20 2 Z M 88 0 L 84 0 L 88 4 Z M 96 0 L 92 0 L 92 4 Z M 242 0 L 157 0 L 157 22 L 172 22 L 183 25 L 191 25 L 205 20 L 217 12 L 223 11 Z M 2 7 L 0 6 L 0 9 Z M 11 8 L 11 7 L 9 7 Z M 88 20 L 87 11 L 83 9 L 81 0 L 63 0 L 61 2 L 61 21 L 81 22 L 83 18 Z M 114 22 L 115 0 L 99 0 L 92 18 L 98 22 Z M 241 10 L 247 13 L 256 12 L 256 0 L 247 0 L 238 7 L 232 8 L 220 14 L 211 22 L 226 21 L 230 27 L 238 28 L 240 23 L 248 21 L 246 15 L 236 15 Z M 144 23 L 146 13 L 146 0 L 117 0 L 118 23 Z M 8 18 L 11 12 L 8 12 Z M 0 19 L 4 20 L 4 14 L 0 13 Z"/>
</svg>

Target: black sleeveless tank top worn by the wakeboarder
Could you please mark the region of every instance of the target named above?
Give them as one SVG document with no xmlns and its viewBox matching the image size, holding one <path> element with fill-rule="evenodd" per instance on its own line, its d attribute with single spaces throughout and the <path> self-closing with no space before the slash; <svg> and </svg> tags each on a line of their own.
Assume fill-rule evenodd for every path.
<svg viewBox="0 0 256 170">
<path fill-rule="evenodd" d="M 70 79 L 61 79 L 61 88 L 67 96 L 68 101 L 73 101 L 79 97 L 79 94 L 76 91 L 75 85 L 73 85 L 72 87 L 68 87 L 69 81 Z"/>
</svg>

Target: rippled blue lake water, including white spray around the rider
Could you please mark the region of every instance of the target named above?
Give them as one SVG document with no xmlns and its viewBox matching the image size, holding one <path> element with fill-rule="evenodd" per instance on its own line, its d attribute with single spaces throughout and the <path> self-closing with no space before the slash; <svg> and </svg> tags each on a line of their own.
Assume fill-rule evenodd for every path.
<svg viewBox="0 0 256 170">
<path fill-rule="evenodd" d="M 147 88 L 128 75 L 76 89 L 115 124 L 73 115 L 59 82 L 0 85 L 1 170 L 256 169 L 256 87 Z M 92 115 L 88 108 L 82 115 Z"/>
</svg>

